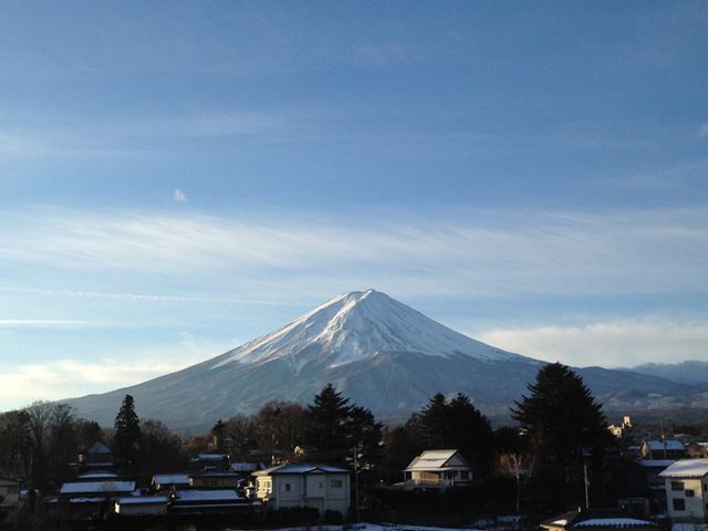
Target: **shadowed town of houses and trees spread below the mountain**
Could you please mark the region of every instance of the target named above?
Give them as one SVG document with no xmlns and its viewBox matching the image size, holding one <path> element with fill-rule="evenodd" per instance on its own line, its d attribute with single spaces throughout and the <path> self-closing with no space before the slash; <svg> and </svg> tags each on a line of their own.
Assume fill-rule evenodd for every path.
<svg viewBox="0 0 708 531">
<path fill-rule="evenodd" d="M 0 529 L 707 521 L 708 426 L 610 424 L 558 363 L 496 429 L 461 393 L 384 426 L 331 384 L 308 405 L 269 402 L 199 437 L 140 418 L 131 395 L 118 406 L 112 427 L 61 403 L 0 415 Z"/>
</svg>

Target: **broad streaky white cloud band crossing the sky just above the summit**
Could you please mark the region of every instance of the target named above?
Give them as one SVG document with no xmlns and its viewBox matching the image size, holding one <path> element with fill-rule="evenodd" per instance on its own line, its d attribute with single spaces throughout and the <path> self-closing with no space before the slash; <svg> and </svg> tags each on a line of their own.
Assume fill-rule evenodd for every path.
<svg viewBox="0 0 708 531">
<path fill-rule="evenodd" d="M 502 296 L 700 292 L 708 285 L 707 207 L 425 218 L 39 209 L 0 216 L 0 260 L 98 275 L 236 275 L 266 287 L 258 299 L 273 301 L 293 284 L 324 291 L 345 282 L 399 295 Z"/>
</svg>

